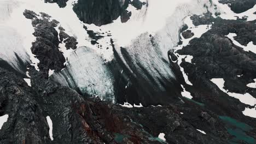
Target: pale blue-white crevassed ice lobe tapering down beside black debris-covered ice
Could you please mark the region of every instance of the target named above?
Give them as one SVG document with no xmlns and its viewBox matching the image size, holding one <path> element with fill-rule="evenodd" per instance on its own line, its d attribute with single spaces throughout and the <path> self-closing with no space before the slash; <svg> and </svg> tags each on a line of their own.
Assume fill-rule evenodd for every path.
<svg viewBox="0 0 256 144">
<path fill-rule="evenodd" d="M 100 99 L 114 100 L 113 75 L 107 63 L 89 47 L 78 47 L 72 52 L 67 68 L 54 73 L 53 79 Z"/>
</svg>

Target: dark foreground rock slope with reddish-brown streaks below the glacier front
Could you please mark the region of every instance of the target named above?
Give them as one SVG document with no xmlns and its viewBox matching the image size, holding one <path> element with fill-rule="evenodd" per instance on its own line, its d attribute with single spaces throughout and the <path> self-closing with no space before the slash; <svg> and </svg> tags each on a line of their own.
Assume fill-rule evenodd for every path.
<svg viewBox="0 0 256 144">
<path fill-rule="evenodd" d="M 34 77 L 29 87 L 22 77 L 2 68 L 0 76 L 0 116 L 9 116 L 0 131 L 1 143 L 224 144 L 231 137 L 217 115 L 185 99 L 129 109 L 83 97 L 50 80 Z M 53 122 L 53 141 L 46 116 Z M 166 141 L 158 138 L 160 133 L 166 134 Z"/>
</svg>

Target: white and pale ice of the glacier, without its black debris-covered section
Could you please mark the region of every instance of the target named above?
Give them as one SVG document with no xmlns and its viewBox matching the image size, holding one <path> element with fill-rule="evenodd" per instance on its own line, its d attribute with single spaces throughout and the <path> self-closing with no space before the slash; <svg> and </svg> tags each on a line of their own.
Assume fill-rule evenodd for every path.
<svg viewBox="0 0 256 144">
<path fill-rule="evenodd" d="M 77 1 L 68 1 L 65 8 L 59 8 L 57 4 L 44 3 L 42 0 L 7 1 L 8 4 L 13 2 L 17 5 L 15 9 L 12 9 L 9 18 L 6 14 L 2 15 L 5 15 L 4 26 L 7 27 L 8 24 L 10 25 L 8 27 L 14 28 L 15 32 L 18 33 L 19 36 L 11 39 L 20 47 L 8 46 L 8 48 L 4 48 L 4 52 L 8 53 L 1 58 L 5 58 L 6 61 L 13 63 L 13 67 L 19 69 L 13 55 L 15 51 L 24 61 L 32 61 L 37 66 L 38 59 L 32 55 L 30 50 L 31 43 L 35 39 L 32 35 L 34 29 L 31 20 L 27 20 L 22 13 L 28 9 L 38 14 L 39 12 L 49 14 L 52 19 L 60 22 L 60 26 L 66 29 L 65 32 L 68 35 L 77 38 L 79 47 L 75 51 L 66 51 L 63 45 L 60 45 L 60 50 L 67 59 L 65 63 L 67 68 L 60 73 L 56 74 L 55 72 L 51 75 L 51 79 L 72 88 L 79 88 L 82 92 L 98 95 L 101 99 L 112 99 L 112 101 L 114 101 L 113 75 L 108 70 L 107 65 L 107 62 L 113 59 L 110 38 L 113 39 L 118 55 L 124 62 L 125 58 L 122 56 L 120 47 L 124 47 L 129 56 L 133 58 L 134 61 L 129 62 L 135 65 L 133 70 L 129 68 L 129 64 L 126 62 L 126 67 L 132 73 L 140 73 L 150 83 L 149 77 L 142 71 L 142 69 L 146 69 L 152 75 L 154 83 L 158 85 L 155 88 L 165 91 L 161 82 L 162 77 L 166 80 L 175 79 L 168 64 L 167 51 L 176 46 L 179 40 L 179 28 L 183 25 L 184 18 L 189 14 L 205 13 L 207 10 L 203 6 L 204 4 L 209 6 L 208 10 L 214 11 L 208 0 L 149 0 L 147 1 L 148 7 L 143 5 L 141 10 L 129 5 L 128 10 L 132 12 L 132 16 L 126 23 L 115 20 L 113 23 L 98 27 L 94 24 L 85 24 L 78 19 L 72 9 L 72 4 Z M 0 8 L 3 9 L 3 7 Z M 6 7 L 4 8 L 6 9 Z M 5 10 L 5 13 L 6 11 L 8 10 Z M 18 27 L 15 23 L 17 20 L 19 20 Z M 110 31 L 112 37 L 98 40 L 98 43 L 102 45 L 102 48 L 99 49 L 90 43 L 89 35 L 83 28 L 84 25 L 95 32 Z M 5 35 L 14 35 L 13 33 L 4 33 Z M 152 43 L 152 38 L 154 38 L 154 43 Z M 7 44 L 6 41 L 3 43 Z M 107 47 L 109 49 L 106 49 Z M 103 95 L 107 95 L 106 98 L 103 98 Z"/>
</svg>

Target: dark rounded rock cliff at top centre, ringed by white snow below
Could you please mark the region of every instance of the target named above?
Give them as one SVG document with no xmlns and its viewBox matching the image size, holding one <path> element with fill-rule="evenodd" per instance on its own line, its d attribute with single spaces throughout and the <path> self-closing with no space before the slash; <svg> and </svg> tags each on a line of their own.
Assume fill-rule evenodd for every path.
<svg viewBox="0 0 256 144">
<path fill-rule="evenodd" d="M 84 23 L 101 26 L 113 22 L 119 16 L 121 22 L 129 20 L 131 12 L 126 10 L 129 3 L 137 9 L 141 9 L 142 5 L 146 4 L 139 0 L 133 2 L 130 0 L 78 0 L 73 10 Z"/>
</svg>

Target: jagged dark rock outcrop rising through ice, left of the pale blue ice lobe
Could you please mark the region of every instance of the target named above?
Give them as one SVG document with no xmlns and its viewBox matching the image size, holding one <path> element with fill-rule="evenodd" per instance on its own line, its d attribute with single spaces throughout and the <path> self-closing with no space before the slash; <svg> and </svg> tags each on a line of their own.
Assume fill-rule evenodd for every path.
<svg viewBox="0 0 256 144">
<path fill-rule="evenodd" d="M 59 44 L 66 43 L 67 49 L 76 49 L 78 43 L 74 37 L 70 37 L 62 30 L 60 30 L 60 41 L 59 34 L 55 29 L 59 22 L 56 20 L 49 21 L 50 16 L 48 14 L 40 14 L 43 19 L 38 19 L 37 16 L 39 15 L 33 11 L 24 11 L 24 16 L 32 20 L 32 26 L 35 30 L 33 35 L 36 37 L 36 41 L 32 43 L 31 51 L 40 61 L 38 68 L 41 76 L 48 79 L 49 69 L 60 71 L 65 68 L 65 57 L 59 50 Z"/>
</svg>

